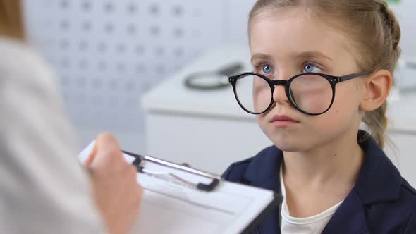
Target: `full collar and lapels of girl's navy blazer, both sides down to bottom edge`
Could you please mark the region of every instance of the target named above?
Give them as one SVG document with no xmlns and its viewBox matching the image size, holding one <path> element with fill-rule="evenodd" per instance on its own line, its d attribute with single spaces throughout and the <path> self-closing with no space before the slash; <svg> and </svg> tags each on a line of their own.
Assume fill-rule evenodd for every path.
<svg viewBox="0 0 416 234">
<path fill-rule="evenodd" d="M 357 182 L 322 233 L 368 233 L 365 206 L 398 199 L 403 178 L 372 137 L 360 130 L 357 140 L 365 152 Z M 279 179 L 283 153 L 272 146 L 257 154 L 247 166 L 244 178 L 250 185 L 281 192 Z M 279 209 L 257 227 L 258 233 L 281 233 Z"/>
</svg>

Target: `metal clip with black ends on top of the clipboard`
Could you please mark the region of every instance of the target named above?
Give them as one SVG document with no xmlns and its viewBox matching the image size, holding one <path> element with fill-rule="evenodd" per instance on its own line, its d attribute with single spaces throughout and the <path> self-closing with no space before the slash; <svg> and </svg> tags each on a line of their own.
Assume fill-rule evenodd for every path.
<svg viewBox="0 0 416 234">
<path fill-rule="evenodd" d="M 192 187 L 196 187 L 198 190 L 202 190 L 202 191 L 207 191 L 210 192 L 212 190 L 215 189 L 215 187 L 219 184 L 219 181 L 222 180 L 221 176 L 216 176 L 212 173 L 207 173 L 205 171 L 200 171 L 197 170 L 195 168 L 190 168 L 188 166 L 183 166 L 183 165 L 179 165 L 179 164 L 173 164 L 170 161 L 165 161 L 162 159 L 157 159 L 154 158 L 152 156 L 144 156 L 144 155 L 140 155 L 140 154 L 133 154 L 131 152 L 127 152 L 122 150 L 121 152 L 123 152 L 124 154 L 127 154 L 128 156 L 133 156 L 135 158 L 135 160 L 132 162 L 132 164 L 137 168 L 137 171 L 140 173 L 147 173 L 153 176 L 157 176 L 157 175 L 161 175 L 161 174 L 168 174 L 169 176 L 171 176 L 171 178 L 174 178 L 176 180 L 180 180 L 182 183 L 191 185 Z M 203 176 L 205 178 L 210 178 L 212 179 L 211 183 L 192 183 L 188 180 L 185 180 L 179 176 L 176 176 L 173 173 L 160 173 L 160 172 L 154 172 L 154 171 L 149 171 L 146 168 L 144 168 L 142 165 L 140 165 L 142 163 L 142 161 L 149 161 L 152 162 L 154 164 L 159 164 L 161 166 L 166 166 L 169 168 L 174 168 L 174 169 L 178 169 L 180 171 L 185 171 L 188 173 L 192 173 L 198 176 Z"/>
</svg>

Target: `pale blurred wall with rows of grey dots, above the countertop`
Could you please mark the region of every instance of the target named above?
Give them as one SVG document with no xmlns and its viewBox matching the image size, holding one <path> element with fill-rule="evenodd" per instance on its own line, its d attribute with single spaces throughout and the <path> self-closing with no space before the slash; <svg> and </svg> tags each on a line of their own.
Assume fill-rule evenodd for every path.
<svg viewBox="0 0 416 234">
<path fill-rule="evenodd" d="M 204 50 L 244 44 L 252 3 L 24 1 L 30 42 L 56 70 L 80 144 L 106 129 L 137 151 L 144 147 L 142 94 Z"/>
</svg>

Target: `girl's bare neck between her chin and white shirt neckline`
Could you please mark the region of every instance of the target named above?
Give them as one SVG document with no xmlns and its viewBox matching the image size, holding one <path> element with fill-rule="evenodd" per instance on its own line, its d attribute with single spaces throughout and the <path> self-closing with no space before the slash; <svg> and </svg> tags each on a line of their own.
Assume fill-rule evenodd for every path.
<svg viewBox="0 0 416 234">
<path fill-rule="evenodd" d="M 314 216 L 343 201 L 355 185 L 363 159 L 356 133 L 309 152 L 283 152 L 290 215 Z"/>
</svg>

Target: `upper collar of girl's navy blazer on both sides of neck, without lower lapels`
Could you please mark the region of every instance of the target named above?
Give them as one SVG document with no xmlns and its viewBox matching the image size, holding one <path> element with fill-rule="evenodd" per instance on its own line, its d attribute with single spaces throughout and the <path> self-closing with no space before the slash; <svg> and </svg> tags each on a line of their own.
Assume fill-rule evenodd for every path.
<svg viewBox="0 0 416 234">
<path fill-rule="evenodd" d="M 398 199 L 403 178 L 374 139 L 363 130 L 357 140 L 365 152 L 365 160 L 354 190 L 362 204 L 389 202 Z M 279 173 L 283 153 L 272 146 L 257 154 L 245 171 L 250 185 L 280 192 Z M 387 189 L 386 189 L 387 188 Z"/>
</svg>

